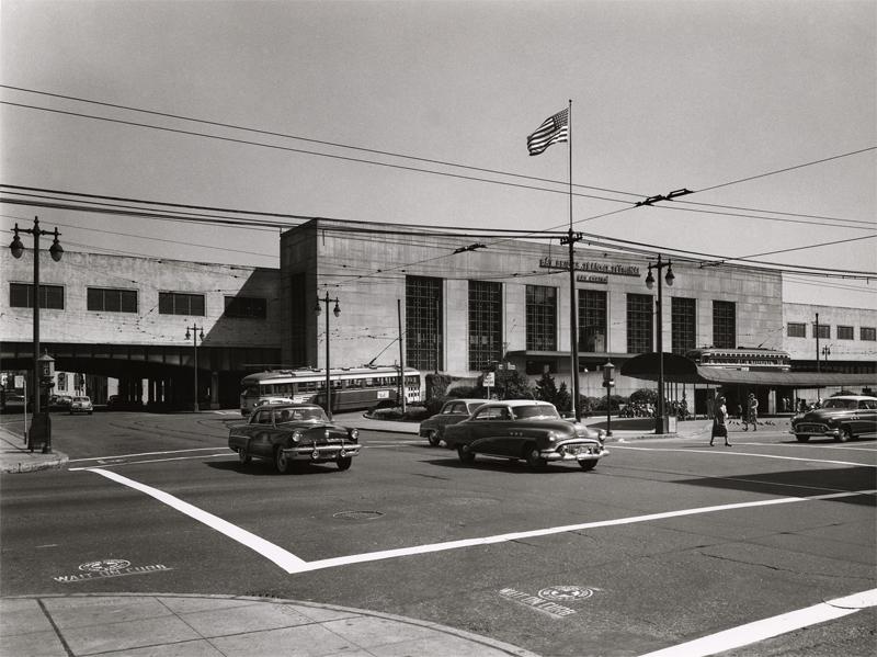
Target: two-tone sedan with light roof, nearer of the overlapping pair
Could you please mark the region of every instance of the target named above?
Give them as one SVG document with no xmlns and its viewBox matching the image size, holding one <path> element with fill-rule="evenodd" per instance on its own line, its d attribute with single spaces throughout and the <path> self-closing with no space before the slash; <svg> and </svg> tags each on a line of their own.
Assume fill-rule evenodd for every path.
<svg viewBox="0 0 877 657">
<path fill-rule="evenodd" d="M 553 461 L 576 461 L 582 469 L 593 469 L 608 454 L 602 430 L 565 420 L 553 404 L 531 399 L 490 401 L 444 432 L 445 443 L 463 463 L 483 454 L 526 461 L 532 469 Z"/>
</svg>

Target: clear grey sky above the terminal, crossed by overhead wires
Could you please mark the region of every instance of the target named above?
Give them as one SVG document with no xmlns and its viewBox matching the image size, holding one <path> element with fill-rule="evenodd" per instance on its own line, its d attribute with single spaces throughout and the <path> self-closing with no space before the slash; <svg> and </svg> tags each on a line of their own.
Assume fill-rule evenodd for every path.
<svg viewBox="0 0 877 657">
<path fill-rule="evenodd" d="M 0 0 L 0 184 L 566 229 L 571 148 L 576 230 L 869 272 L 784 297 L 874 308 L 875 61 L 870 0 Z M 572 141 L 528 156 L 570 101 Z M 19 197 L 0 189 L 0 228 L 39 215 L 67 250 L 278 267 L 276 228 Z"/>
</svg>

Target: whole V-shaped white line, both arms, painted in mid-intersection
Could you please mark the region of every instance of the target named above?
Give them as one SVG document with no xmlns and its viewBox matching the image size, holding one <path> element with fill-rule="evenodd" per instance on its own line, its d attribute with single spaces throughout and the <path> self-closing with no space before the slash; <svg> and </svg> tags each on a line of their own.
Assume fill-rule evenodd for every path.
<svg viewBox="0 0 877 657">
<path fill-rule="evenodd" d="M 218 518 L 212 513 L 207 513 L 190 505 L 189 502 L 184 502 L 183 500 L 163 492 L 157 488 L 152 488 L 150 486 L 146 486 L 145 484 L 140 484 L 135 482 L 134 479 L 129 479 L 127 477 L 123 477 L 122 475 L 93 467 L 93 468 L 86 468 L 87 472 L 93 472 L 99 475 L 102 475 L 109 479 L 117 482 L 124 486 L 129 486 L 135 490 L 139 490 L 149 495 L 157 500 L 164 502 L 166 505 L 176 509 L 178 511 L 194 518 L 195 520 L 207 524 L 208 526 L 217 530 L 218 532 L 238 541 L 239 543 L 250 547 L 258 554 L 269 558 L 270 560 L 277 564 L 281 568 L 286 570 L 288 574 L 293 573 L 307 573 L 310 570 L 321 570 L 323 568 L 335 568 L 338 566 L 348 566 L 351 564 L 363 564 L 366 562 L 377 562 L 383 559 L 391 559 L 391 558 L 399 558 L 406 556 L 412 556 L 415 554 L 429 554 L 433 552 L 444 552 L 447 550 L 459 550 L 462 547 L 475 547 L 478 545 L 492 545 L 496 543 L 508 543 L 511 541 L 520 541 L 522 539 L 533 539 L 536 536 L 549 536 L 553 534 L 563 534 L 567 532 L 576 532 L 581 530 L 590 530 L 590 529 L 597 529 L 603 526 L 618 526 L 624 524 L 635 524 L 638 522 L 650 522 L 652 520 L 667 520 L 669 518 L 682 518 L 685 516 L 698 516 L 703 513 L 715 513 L 718 511 L 730 511 L 736 509 L 750 509 L 754 507 L 771 507 L 775 505 L 789 505 L 796 502 L 809 502 L 809 501 L 817 501 L 817 500 L 828 500 L 828 499 L 841 499 L 846 497 L 859 497 L 866 495 L 875 495 L 877 494 L 877 489 L 875 490 L 852 490 L 852 491 L 844 491 L 844 492 L 829 492 L 825 495 L 815 495 L 812 497 L 784 497 L 779 499 L 770 499 L 770 500 L 760 500 L 760 501 L 752 501 L 752 502 L 737 502 L 731 505 L 717 505 L 714 507 L 697 507 L 694 509 L 682 509 L 679 511 L 664 511 L 661 513 L 648 513 L 646 516 L 633 516 L 629 518 L 616 518 L 614 520 L 600 520 L 596 522 L 583 522 L 580 524 L 567 524 L 562 526 L 553 526 L 553 528 L 545 528 L 538 530 L 529 530 L 524 532 L 512 532 L 508 534 L 498 534 L 494 536 L 481 536 L 477 539 L 463 539 L 459 541 L 446 541 L 444 543 L 432 543 L 429 545 L 412 545 L 410 547 L 399 547 L 396 550 L 381 550 L 378 552 L 366 552 L 363 554 L 352 554 L 348 556 L 341 557 L 333 557 L 329 559 L 319 559 L 316 562 L 306 562 L 291 552 L 287 552 L 283 547 L 278 545 L 274 545 L 264 539 L 260 539 L 255 534 L 248 532 L 239 526 L 231 524 Z"/>
</svg>

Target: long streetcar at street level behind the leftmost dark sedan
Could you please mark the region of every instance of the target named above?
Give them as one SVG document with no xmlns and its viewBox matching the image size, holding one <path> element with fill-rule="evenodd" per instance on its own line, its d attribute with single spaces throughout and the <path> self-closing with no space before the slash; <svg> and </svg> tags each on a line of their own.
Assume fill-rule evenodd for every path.
<svg viewBox="0 0 877 657">
<path fill-rule="evenodd" d="M 332 412 L 371 408 L 380 403 L 399 400 L 399 367 L 367 365 L 329 370 Z M 326 406 L 326 370 L 298 367 L 266 370 L 241 380 L 240 414 L 249 416 L 253 408 L 272 403 L 312 403 Z M 420 372 L 405 369 L 405 399 L 421 399 Z"/>
</svg>

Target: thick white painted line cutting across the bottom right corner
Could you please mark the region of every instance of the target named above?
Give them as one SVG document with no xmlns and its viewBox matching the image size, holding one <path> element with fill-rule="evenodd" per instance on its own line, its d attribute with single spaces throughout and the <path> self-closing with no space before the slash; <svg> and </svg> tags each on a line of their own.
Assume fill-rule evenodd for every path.
<svg viewBox="0 0 877 657">
<path fill-rule="evenodd" d="M 641 657 L 706 657 L 707 655 L 732 650 L 817 623 L 833 621 L 867 607 L 877 607 L 877 589 L 862 591 L 845 598 L 836 598 L 806 609 L 732 627 L 731 630 L 703 636 L 684 644 L 648 653 Z"/>
</svg>

